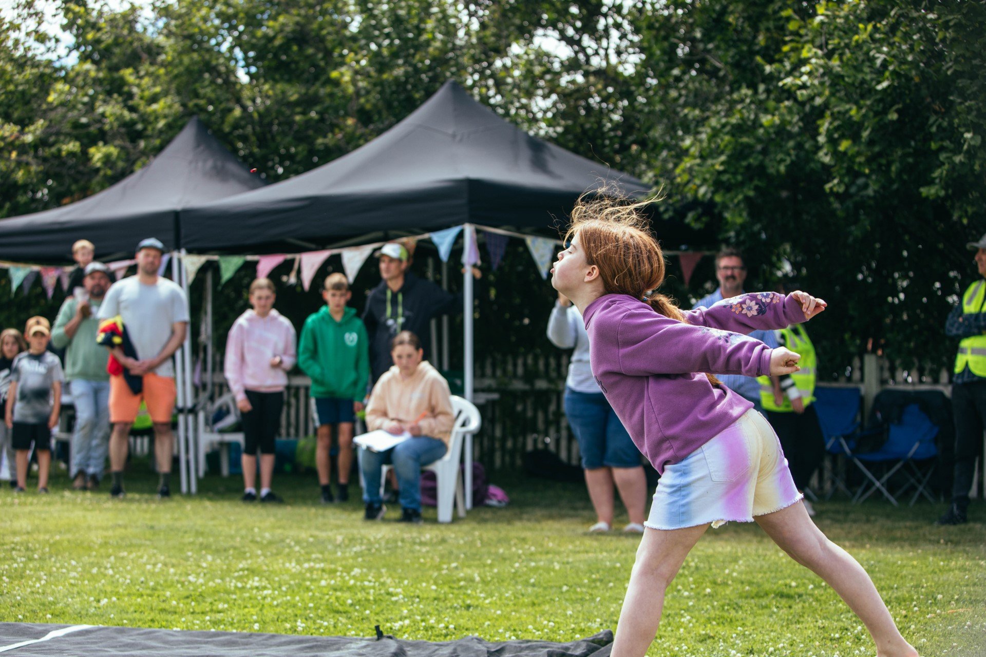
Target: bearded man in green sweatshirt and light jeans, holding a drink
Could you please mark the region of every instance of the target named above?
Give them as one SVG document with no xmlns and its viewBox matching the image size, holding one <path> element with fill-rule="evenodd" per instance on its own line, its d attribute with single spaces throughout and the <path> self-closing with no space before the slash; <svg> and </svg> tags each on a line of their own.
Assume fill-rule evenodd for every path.
<svg viewBox="0 0 986 657">
<path fill-rule="evenodd" d="M 51 343 L 65 351 L 65 380 L 75 407 L 72 469 L 76 491 L 95 491 L 103 478 L 109 440 L 109 354 L 96 344 L 96 314 L 109 290 L 109 268 L 102 262 L 86 265 L 82 287 L 58 310 Z"/>
</svg>

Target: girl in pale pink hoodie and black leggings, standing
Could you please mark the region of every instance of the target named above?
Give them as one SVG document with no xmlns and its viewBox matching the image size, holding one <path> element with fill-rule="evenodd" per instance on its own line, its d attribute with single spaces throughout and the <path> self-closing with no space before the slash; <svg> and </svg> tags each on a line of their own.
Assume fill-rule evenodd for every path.
<svg viewBox="0 0 986 657">
<path fill-rule="evenodd" d="M 255 501 L 256 452 L 260 450 L 260 501 L 281 498 L 270 490 L 274 472 L 274 438 L 281 427 L 288 371 L 298 360 L 295 327 L 274 309 L 274 284 L 256 279 L 249 286 L 253 306 L 230 329 L 223 368 L 236 395 L 244 427 L 244 501 Z"/>
</svg>

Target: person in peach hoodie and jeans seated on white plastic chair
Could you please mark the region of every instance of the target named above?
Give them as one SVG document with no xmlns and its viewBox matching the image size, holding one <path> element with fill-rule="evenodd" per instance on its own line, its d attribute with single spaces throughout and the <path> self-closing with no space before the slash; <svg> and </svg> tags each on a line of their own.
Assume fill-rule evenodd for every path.
<svg viewBox="0 0 986 657">
<path fill-rule="evenodd" d="M 421 341 L 401 331 L 390 343 L 393 366 L 380 377 L 367 405 L 367 428 L 413 437 L 385 452 L 360 450 L 366 519 L 381 520 L 387 508 L 380 494 L 383 466 L 392 464 L 400 490 L 401 522 L 421 522 L 421 468 L 445 455 L 456 416 L 449 383 L 428 361 Z"/>
</svg>

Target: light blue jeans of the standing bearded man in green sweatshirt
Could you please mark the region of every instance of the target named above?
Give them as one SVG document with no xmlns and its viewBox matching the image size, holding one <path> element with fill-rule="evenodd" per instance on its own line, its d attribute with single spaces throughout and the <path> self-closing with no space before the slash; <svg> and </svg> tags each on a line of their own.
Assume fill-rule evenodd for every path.
<svg viewBox="0 0 986 657">
<path fill-rule="evenodd" d="M 72 432 L 72 472 L 103 478 L 109 448 L 109 381 L 73 379 L 69 388 L 75 404 Z"/>
</svg>

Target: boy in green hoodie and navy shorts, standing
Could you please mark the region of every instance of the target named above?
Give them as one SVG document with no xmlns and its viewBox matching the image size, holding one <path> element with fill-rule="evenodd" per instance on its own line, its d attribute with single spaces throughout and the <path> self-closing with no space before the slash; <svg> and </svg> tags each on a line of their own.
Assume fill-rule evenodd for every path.
<svg viewBox="0 0 986 657">
<path fill-rule="evenodd" d="M 363 410 L 370 378 L 367 330 L 356 310 L 346 306 L 352 294 L 342 274 L 325 279 L 325 305 L 305 320 L 298 345 L 298 365 L 312 378 L 312 402 L 317 427 L 316 467 L 321 501 L 334 501 L 329 484 L 332 427 L 339 440 L 339 501 L 349 499 L 353 465 L 353 423 Z"/>
</svg>

